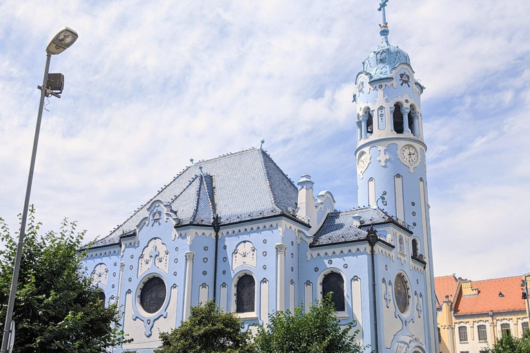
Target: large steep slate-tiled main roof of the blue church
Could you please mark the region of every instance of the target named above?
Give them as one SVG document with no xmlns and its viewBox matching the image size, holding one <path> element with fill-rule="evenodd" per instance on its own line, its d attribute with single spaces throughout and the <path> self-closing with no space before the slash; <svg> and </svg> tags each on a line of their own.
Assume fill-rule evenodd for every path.
<svg viewBox="0 0 530 353">
<path fill-rule="evenodd" d="M 259 148 L 199 161 L 181 172 L 110 235 L 92 246 L 119 242 L 136 229 L 155 200 L 170 204 L 182 224 L 211 224 L 215 213 L 221 223 L 291 215 L 298 189 L 271 157 Z"/>
</svg>

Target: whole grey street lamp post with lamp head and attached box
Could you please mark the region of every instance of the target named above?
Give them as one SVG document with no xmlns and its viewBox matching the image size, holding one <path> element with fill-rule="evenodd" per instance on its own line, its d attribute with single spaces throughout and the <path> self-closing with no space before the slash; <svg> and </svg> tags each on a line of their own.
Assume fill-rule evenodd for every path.
<svg viewBox="0 0 530 353">
<path fill-rule="evenodd" d="M 12 325 L 13 317 L 13 308 L 14 308 L 14 298 L 17 294 L 17 281 L 19 280 L 19 271 L 20 271 L 20 261 L 22 257 L 24 236 L 26 231 L 26 221 L 28 219 L 28 208 L 30 206 L 30 194 L 31 194 L 31 184 L 33 181 L 33 171 L 35 170 L 35 158 L 37 157 L 37 144 L 39 143 L 39 132 L 41 130 L 41 119 L 42 119 L 42 110 L 44 106 L 44 97 L 54 96 L 61 98 L 59 93 L 63 90 L 63 75 L 62 74 L 48 74 L 50 69 L 50 59 L 52 55 L 60 54 L 64 50 L 70 48 L 72 44 L 77 40 L 77 32 L 68 27 L 63 27 L 48 42 L 46 47 L 46 66 L 44 68 L 44 78 L 41 86 L 37 86 L 41 90 L 41 101 L 39 104 L 39 113 L 37 114 L 37 127 L 35 128 L 35 138 L 33 139 L 33 150 L 31 154 L 30 162 L 30 173 L 28 175 L 28 185 L 26 187 L 26 199 L 24 199 L 24 208 L 22 210 L 22 219 L 20 222 L 20 232 L 19 232 L 19 243 L 17 244 L 17 255 L 14 259 L 13 266 L 13 277 L 11 280 L 11 290 L 9 293 L 8 301 L 8 310 L 6 313 L 6 323 L 3 325 L 3 337 L 2 337 L 2 348 L 1 353 L 7 353 L 12 350 L 12 343 L 14 342 L 14 337 L 10 337 L 11 333 L 14 333 L 14 325 Z M 11 330 L 13 328 L 13 330 Z M 11 343 L 11 347 L 8 347 L 8 344 Z"/>
</svg>

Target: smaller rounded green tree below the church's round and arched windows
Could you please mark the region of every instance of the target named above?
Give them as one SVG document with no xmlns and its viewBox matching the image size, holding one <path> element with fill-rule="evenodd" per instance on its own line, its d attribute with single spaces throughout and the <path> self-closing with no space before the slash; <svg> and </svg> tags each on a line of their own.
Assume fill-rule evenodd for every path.
<svg viewBox="0 0 530 353">
<path fill-rule="evenodd" d="M 161 332 L 157 353 L 251 353 L 251 333 L 241 331 L 239 319 L 221 312 L 214 301 L 191 307 L 190 318 L 170 332 Z"/>
</svg>

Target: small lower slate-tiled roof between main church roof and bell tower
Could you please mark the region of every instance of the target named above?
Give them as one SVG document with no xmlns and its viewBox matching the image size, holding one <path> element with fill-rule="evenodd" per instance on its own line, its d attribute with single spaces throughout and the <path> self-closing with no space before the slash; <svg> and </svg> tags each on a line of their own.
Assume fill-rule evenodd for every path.
<svg viewBox="0 0 530 353">
<path fill-rule="evenodd" d="M 322 227 L 316 232 L 312 245 L 327 245 L 366 238 L 366 231 L 354 224 L 353 216 L 355 214 L 361 216 L 361 225 L 393 221 L 388 214 L 378 208 L 357 208 L 330 212 Z"/>
</svg>

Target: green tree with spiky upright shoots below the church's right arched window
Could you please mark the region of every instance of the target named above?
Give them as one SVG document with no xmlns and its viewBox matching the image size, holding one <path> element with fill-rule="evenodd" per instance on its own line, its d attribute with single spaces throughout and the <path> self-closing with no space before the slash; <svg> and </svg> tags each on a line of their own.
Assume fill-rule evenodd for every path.
<svg viewBox="0 0 530 353">
<path fill-rule="evenodd" d="M 358 353 L 365 347 L 355 342 L 355 323 L 340 327 L 335 318 L 335 305 L 328 294 L 311 306 L 309 312 L 301 307 L 295 313 L 275 312 L 269 315 L 267 327 L 258 327 L 255 343 L 262 353 Z"/>
</svg>

